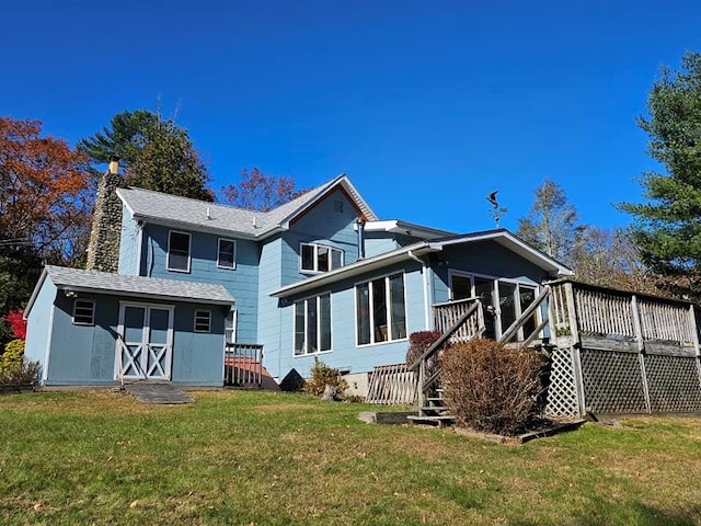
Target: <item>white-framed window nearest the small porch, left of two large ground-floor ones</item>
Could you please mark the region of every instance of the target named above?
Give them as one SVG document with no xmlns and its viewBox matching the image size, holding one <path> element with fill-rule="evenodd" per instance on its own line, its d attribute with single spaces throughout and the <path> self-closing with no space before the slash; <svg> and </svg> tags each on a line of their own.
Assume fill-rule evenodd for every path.
<svg viewBox="0 0 701 526">
<path fill-rule="evenodd" d="M 331 295 L 295 304 L 295 356 L 331 351 Z"/>
</svg>

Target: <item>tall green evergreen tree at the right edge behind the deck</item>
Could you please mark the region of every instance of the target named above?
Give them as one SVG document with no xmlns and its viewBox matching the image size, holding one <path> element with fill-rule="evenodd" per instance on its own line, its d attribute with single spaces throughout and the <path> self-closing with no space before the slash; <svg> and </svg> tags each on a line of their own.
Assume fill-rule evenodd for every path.
<svg viewBox="0 0 701 526">
<path fill-rule="evenodd" d="M 643 262 L 668 291 L 701 299 L 701 54 L 681 69 L 662 69 L 637 119 L 660 172 L 643 174 L 645 203 L 623 203 L 634 217 L 633 240 Z"/>
</svg>

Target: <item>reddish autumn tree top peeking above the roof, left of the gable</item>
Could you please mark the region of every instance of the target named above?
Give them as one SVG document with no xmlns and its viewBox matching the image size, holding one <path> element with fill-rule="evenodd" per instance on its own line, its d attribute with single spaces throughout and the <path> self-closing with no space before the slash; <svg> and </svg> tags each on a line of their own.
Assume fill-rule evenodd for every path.
<svg viewBox="0 0 701 526">
<path fill-rule="evenodd" d="M 229 203 L 249 210 L 268 211 L 299 197 L 307 190 L 295 190 L 295 178 L 266 175 L 257 168 L 241 170 L 241 182 L 221 188 Z"/>
</svg>

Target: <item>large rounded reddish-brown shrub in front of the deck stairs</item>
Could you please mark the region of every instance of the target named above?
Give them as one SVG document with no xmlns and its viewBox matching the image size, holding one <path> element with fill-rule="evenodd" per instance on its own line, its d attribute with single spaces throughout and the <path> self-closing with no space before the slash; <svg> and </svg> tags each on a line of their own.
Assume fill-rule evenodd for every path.
<svg viewBox="0 0 701 526">
<path fill-rule="evenodd" d="M 541 354 L 472 340 L 443 355 L 444 398 L 460 425 L 516 435 L 539 415 Z"/>
</svg>

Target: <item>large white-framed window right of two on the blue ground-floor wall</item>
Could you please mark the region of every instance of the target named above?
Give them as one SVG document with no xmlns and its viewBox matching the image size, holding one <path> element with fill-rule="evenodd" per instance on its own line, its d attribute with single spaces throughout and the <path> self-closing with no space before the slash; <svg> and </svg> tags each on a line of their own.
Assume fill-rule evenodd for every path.
<svg viewBox="0 0 701 526">
<path fill-rule="evenodd" d="M 360 283 L 355 287 L 358 345 L 406 338 L 404 274 Z"/>
</svg>

